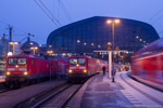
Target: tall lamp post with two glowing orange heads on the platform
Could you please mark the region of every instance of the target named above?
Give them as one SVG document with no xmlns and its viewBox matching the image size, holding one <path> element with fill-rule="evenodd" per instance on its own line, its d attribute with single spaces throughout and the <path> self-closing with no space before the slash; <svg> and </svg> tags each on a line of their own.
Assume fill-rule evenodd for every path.
<svg viewBox="0 0 163 108">
<path fill-rule="evenodd" d="M 106 24 L 109 24 L 109 25 L 112 25 L 112 44 L 113 44 L 113 48 L 112 48 L 112 51 L 113 51 L 113 56 L 114 56 L 114 26 L 115 26 L 115 24 L 120 24 L 120 19 L 114 19 L 114 21 L 112 21 L 112 19 L 108 19 L 106 21 Z M 111 64 L 111 63 L 110 63 Z M 114 82 L 114 58 L 113 58 L 113 65 L 112 65 L 112 82 Z"/>
</svg>

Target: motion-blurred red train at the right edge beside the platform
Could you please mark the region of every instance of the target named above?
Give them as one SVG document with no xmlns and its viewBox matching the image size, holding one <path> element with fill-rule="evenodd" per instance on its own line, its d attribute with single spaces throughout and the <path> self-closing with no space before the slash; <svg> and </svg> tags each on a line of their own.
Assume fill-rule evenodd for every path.
<svg viewBox="0 0 163 108">
<path fill-rule="evenodd" d="M 163 85 L 163 39 L 159 39 L 133 56 L 131 73 Z"/>
</svg>

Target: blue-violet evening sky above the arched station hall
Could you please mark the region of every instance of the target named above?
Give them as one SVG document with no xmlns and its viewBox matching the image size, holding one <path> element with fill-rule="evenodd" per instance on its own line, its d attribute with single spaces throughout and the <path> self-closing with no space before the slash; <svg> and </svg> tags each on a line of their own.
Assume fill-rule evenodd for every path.
<svg viewBox="0 0 163 108">
<path fill-rule="evenodd" d="M 13 41 L 20 41 L 30 32 L 35 35 L 32 40 L 45 44 L 52 30 L 91 16 L 149 23 L 163 37 L 163 0 L 41 0 L 60 26 L 52 23 L 35 1 L 41 4 L 39 0 L 0 0 L 0 37 L 9 35 L 7 28 L 11 25 Z"/>
</svg>

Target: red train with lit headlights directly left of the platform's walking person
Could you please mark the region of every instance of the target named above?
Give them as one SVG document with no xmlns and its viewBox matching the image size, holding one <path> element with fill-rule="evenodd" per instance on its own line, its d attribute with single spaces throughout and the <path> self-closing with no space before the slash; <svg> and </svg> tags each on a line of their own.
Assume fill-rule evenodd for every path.
<svg viewBox="0 0 163 108">
<path fill-rule="evenodd" d="M 90 56 L 68 57 L 68 81 L 80 81 L 108 67 L 108 62 Z M 106 69 L 108 70 L 108 69 Z"/>
</svg>

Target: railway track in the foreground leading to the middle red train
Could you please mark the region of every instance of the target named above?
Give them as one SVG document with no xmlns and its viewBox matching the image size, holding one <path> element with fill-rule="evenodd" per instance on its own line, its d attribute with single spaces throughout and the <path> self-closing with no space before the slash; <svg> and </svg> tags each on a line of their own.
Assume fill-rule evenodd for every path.
<svg viewBox="0 0 163 108">
<path fill-rule="evenodd" d="M 14 108 L 49 108 L 54 103 L 58 103 L 59 108 L 64 108 L 80 86 L 82 84 L 62 84 L 18 103 Z"/>
</svg>

